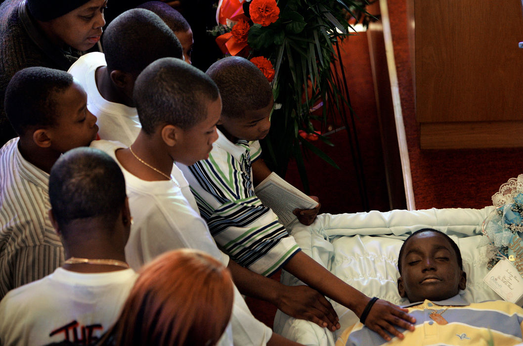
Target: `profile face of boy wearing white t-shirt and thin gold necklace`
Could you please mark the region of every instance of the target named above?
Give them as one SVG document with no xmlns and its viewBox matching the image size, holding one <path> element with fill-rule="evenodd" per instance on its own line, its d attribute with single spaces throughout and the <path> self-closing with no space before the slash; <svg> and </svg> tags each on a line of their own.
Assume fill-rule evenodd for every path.
<svg viewBox="0 0 523 346">
<path fill-rule="evenodd" d="M 199 160 L 209 158 L 212 143 L 218 139 L 216 125 L 222 112 L 222 99 L 207 101 L 207 117 L 188 130 L 181 130 L 173 154 L 175 161 L 184 165 L 194 165 Z"/>
</svg>

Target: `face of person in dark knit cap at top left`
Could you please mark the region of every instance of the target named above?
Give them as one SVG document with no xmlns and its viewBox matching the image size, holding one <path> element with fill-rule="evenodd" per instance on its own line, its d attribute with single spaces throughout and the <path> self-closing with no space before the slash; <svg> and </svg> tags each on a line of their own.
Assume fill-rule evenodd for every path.
<svg viewBox="0 0 523 346">
<path fill-rule="evenodd" d="M 107 0 L 90 0 L 65 15 L 48 22 L 56 43 L 86 51 L 100 40 L 105 25 Z"/>
</svg>

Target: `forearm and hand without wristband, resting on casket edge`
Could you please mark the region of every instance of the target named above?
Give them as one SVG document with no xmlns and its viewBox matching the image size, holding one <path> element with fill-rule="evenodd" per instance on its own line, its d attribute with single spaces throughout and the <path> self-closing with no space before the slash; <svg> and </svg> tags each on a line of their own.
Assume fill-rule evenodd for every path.
<svg viewBox="0 0 523 346">
<path fill-rule="evenodd" d="M 329 330 L 339 328 L 338 316 L 331 303 L 309 286 L 286 286 L 240 266 L 233 260 L 228 265 L 238 290 L 276 305 L 289 316 L 305 319 Z"/>
</svg>

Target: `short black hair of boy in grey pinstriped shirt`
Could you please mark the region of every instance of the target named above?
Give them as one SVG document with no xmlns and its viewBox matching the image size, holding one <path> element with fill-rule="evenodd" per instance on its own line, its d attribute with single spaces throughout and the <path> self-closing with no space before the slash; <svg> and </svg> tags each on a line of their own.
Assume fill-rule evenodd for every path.
<svg viewBox="0 0 523 346">
<path fill-rule="evenodd" d="M 56 123 L 59 97 L 73 84 L 73 76 L 54 68 L 33 66 L 15 73 L 5 93 L 4 109 L 16 133 Z"/>
</svg>

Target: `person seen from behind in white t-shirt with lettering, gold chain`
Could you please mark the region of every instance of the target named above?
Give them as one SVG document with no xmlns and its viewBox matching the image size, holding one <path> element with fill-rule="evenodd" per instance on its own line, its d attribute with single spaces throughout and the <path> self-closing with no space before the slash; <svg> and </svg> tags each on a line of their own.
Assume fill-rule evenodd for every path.
<svg viewBox="0 0 523 346">
<path fill-rule="evenodd" d="M 49 197 L 67 260 L 2 299 L 5 345 L 94 344 L 117 320 L 137 278 L 125 259 L 131 214 L 113 159 L 86 147 L 65 153 L 51 169 Z"/>
</svg>

